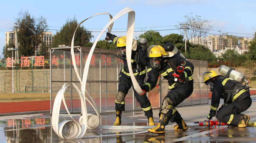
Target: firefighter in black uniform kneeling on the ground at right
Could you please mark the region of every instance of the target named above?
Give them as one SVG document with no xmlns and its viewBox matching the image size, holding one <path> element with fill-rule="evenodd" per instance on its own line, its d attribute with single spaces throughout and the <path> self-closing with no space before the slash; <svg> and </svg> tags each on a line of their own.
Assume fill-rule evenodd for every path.
<svg viewBox="0 0 256 143">
<path fill-rule="evenodd" d="M 210 114 L 207 119 L 211 120 L 215 117 L 220 98 L 224 99 L 224 104 L 217 112 L 216 118 L 223 123 L 244 128 L 250 120 L 245 114 L 252 104 L 250 92 L 247 87 L 237 81 L 218 75 L 215 71 L 203 73 L 204 83 L 212 91 L 212 103 Z"/>
</svg>

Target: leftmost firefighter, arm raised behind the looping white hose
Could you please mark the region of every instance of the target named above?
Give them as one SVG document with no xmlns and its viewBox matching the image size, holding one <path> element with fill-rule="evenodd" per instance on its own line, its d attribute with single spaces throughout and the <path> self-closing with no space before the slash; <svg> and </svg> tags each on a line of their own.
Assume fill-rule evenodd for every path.
<svg viewBox="0 0 256 143">
<path fill-rule="evenodd" d="M 150 126 L 155 125 L 153 120 L 153 112 L 151 103 L 149 102 L 146 94 L 139 95 L 132 84 L 132 79 L 130 77 L 127 59 L 126 59 L 126 36 L 115 36 L 110 33 L 107 33 L 107 36 L 110 37 L 116 48 L 118 50 L 118 58 L 122 59 L 124 62 L 124 67 L 119 73 L 119 84 L 118 84 L 118 93 L 115 98 L 115 110 L 116 110 L 116 120 L 114 125 L 121 125 L 121 114 L 124 111 L 125 106 L 125 96 L 127 95 L 129 89 L 133 88 L 134 95 L 143 109 L 145 116 L 148 118 L 148 123 Z M 146 66 L 150 66 L 149 58 L 146 55 L 147 48 L 147 40 L 146 38 L 141 38 L 139 40 L 139 45 L 137 46 L 137 41 L 133 40 L 132 44 L 132 71 L 133 74 L 138 81 L 139 85 L 144 84 L 144 79 L 146 78 Z M 150 75 L 150 72 L 148 73 Z"/>
</svg>

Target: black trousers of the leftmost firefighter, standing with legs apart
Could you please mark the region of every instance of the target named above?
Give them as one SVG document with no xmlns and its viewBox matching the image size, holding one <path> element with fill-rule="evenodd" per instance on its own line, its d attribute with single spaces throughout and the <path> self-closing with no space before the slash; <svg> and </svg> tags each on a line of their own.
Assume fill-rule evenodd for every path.
<svg viewBox="0 0 256 143">
<path fill-rule="evenodd" d="M 144 84 L 144 79 L 136 79 L 138 81 L 138 83 L 140 85 Z M 125 77 L 119 77 L 119 84 L 118 84 L 118 91 L 124 92 L 124 94 L 127 95 L 129 89 L 132 87 L 132 80 L 131 78 L 125 78 Z M 151 108 L 151 104 L 145 95 L 139 95 L 135 89 L 133 89 L 134 91 L 134 96 L 137 99 L 138 103 L 140 104 L 142 110 L 145 113 L 146 117 L 152 117 L 153 116 L 153 112 L 152 112 L 152 108 Z M 129 98 L 132 97 L 132 92 L 129 93 L 127 95 Z M 125 97 L 125 99 L 127 98 L 127 96 Z M 119 111 L 125 111 L 125 104 L 121 104 L 121 103 L 115 103 L 115 110 L 119 110 Z"/>
</svg>

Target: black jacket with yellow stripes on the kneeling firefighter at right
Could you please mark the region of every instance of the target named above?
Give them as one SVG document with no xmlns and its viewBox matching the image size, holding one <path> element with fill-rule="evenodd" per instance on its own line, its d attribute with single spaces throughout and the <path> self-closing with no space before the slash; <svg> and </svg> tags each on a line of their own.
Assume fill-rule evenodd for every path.
<svg viewBox="0 0 256 143">
<path fill-rule="evenodd" d="M 225 106 L 225 103 L 239 102 L 248 96 L 250 96 L 250 93 L 243 84 L 224 76 L 218 76 L 212 91 L 210 114 L 215 116 L 216 110 L 220 104 L 220 98 L 224 99 L 223 106 Z M 227 99 L 228 97 L 229 99 Z"/>
</svg>

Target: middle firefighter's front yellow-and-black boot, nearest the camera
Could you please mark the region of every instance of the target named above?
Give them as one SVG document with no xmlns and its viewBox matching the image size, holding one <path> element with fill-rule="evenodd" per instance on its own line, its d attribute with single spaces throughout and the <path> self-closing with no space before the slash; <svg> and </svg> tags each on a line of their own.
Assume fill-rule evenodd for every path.
<svg viewBox="0 0 256 143">
<path fill-rule="evenodd" d="M 168 125 L 169 120 L 170 120 L 170 117 L 166 116 L 165 114 L 161 114 L 160 120 L 157 126 L 155 128 L 149 128 L 148 131 L 151 133 L 164 134 L 165 133 L 164 127 Z"/>
</svg>

